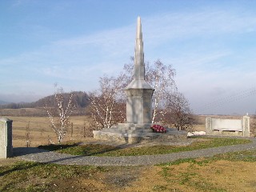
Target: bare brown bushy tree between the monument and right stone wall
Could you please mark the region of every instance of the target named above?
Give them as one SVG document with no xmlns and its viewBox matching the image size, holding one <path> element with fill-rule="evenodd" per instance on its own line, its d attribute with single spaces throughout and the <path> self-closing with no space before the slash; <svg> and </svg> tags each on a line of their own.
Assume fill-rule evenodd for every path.
<svg viewBox="0 0 256 192">
<path fill-rule="evenodd" d="M 194 114 L 190 110 L 190 103 L 182 93 L 170 94 L 165 122 L 172 124 L 178 130 L 193 131 Z"/>
</svg>

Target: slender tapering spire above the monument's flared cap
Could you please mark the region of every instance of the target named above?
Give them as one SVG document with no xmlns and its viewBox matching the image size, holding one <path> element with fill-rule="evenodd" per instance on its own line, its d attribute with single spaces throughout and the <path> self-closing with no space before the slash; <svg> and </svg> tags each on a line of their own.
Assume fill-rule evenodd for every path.
<svg viewBox="0 0 256 192">
<path fill-rule="evenodd" d="M 134 57 L 134 79 L 145 79 L 144 52 L 142 40 L 142 22 L 141 18 L 137 19 L 137 34 L 135 41 L 135 57 Z"/>
</svg>

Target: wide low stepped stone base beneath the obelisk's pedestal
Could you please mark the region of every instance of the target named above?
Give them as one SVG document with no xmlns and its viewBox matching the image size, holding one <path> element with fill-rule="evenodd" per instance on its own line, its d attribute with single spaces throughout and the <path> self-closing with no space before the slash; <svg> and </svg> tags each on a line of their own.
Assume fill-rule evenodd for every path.
<svg viewBox="0 0 256 192">
<path fill-rule="evenodd" d="M 96 139 L 125 143 L 138 143 L 142 141 L 180 142 L 187 139 L 187 132 L 185 130 L 167 128 L 166 133 L 153 133 L 150 129 L 151 125 L 151 123 L 118 123 L 117 126 L 94 130 L 93 133 Z"/>
</svg>

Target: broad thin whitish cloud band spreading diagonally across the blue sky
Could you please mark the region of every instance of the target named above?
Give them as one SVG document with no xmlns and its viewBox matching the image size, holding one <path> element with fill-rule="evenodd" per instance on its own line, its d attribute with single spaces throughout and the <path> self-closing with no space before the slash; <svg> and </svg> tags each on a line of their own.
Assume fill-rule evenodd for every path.
<svg viewBox="0 0 256 192">
<path fill-rule="evenodd" d="M 37 30 L 37 27 L 34 27 Z M 38 30 L 44 30 L 39 27 Z M 244 10 L 179 11 L 142 17 L 146 60 L 162 59 L 177 70 L 178 88 L 197 106 L 218 95 L 253 86 L 254 47 L 239 52 L 236 38 L 254 34 L 256 14 Z M 94 89 L 102 74 L 118 74 L 134 54 L 136 19 L 94 34 L 56 39 L 37 50 L 0 60 L 5 73 L 34 74 L 37 83 L 59 82 L 70 89 Z M 254 37 L 254 35 L 253 35 Z M 255 38 L 255 37 L 254 37 Z M 241 43 L 242 46 L 242 43 Z M 250 66 L 249 70 L 243 66 Z M 14 74 L 15 75 L 15 74 Z M 242 77 L 242 78 L 241 78 Z M 30 79 L 34 81 L 34 79 Z M 6 82 L 11 78 L 6 77 Z M 70 86 L 73 84 L 73 86 Z M 15 87 L 18 84 L 11 84 Z M 21 84 L 40 92 L 37 86 Z M 51 86 L 51 85 L 50 85 Z M 27 89 L 27 88 L 23 88 Z"/>
</svg>

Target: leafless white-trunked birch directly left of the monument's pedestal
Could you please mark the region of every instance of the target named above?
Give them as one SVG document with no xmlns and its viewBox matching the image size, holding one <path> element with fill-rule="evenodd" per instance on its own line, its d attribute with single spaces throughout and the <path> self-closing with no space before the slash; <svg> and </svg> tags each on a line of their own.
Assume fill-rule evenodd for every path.
<svg viewBox="0 0 256 192">
<path fill-rule="evenodd" d="M 110 128 L 125 118 L 125 102 L 122 97 L 123 78 L 104 76 L 100 88 L 90 93 L 90 113 L 95 129 Z"/>
</svg>

